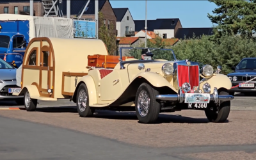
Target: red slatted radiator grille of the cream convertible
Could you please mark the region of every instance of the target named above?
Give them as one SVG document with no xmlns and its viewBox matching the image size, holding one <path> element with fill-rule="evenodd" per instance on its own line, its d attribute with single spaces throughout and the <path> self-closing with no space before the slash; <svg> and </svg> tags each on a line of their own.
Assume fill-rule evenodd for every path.
<svg viewBox="0 0 256 160">
<path fill-rule="evenodd" d="M 178 81 L 181 87 L 183 83 L 189 83 L 191 88 L 199 84 L 199 66 L 178 65 Z"/>
</svg>

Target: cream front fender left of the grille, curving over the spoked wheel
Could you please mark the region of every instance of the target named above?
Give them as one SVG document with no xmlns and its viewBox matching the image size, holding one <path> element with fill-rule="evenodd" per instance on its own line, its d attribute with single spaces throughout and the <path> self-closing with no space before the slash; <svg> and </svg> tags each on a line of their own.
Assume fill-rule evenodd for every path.
<svg viewBox="0 0 256 160">
<path fill-rule="evenodd" d="M 174 92 L 178 93 L 178 91 L 163 76 L 160 76 L 159 74 L 156 74 L 154 72 L 140 72 L 134 77 L 133 81 L 141 77 L 146 79 L 150 84 L 152 84 L 152 86 L 155 86 L 155 87 L 168 86 Z"/>
</svg>

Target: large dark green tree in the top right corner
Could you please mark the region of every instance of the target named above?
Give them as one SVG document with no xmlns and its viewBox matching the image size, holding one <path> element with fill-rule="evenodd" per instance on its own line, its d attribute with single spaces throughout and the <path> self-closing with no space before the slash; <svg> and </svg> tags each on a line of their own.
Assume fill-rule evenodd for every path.
<svg viewBox="0 0 256 160">
<path fill-rule="evenodd" d="M 256 3 L 255 1 L 220 1 L 209 0 L 215 3 L 218 8 L 215 8 L 207 17 L 212 23 L 216 24 L 214 29 L 215 35 L 220 36 L 225 34 L 232 35 L 234 33 L 241 36 L 252 36 L 256 28 Z"/>
</svg>

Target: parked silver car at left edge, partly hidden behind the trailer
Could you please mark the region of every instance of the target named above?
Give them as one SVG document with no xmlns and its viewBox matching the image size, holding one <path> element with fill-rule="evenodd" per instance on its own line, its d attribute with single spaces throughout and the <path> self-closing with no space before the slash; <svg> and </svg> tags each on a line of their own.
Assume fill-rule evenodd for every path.
<svg viewBox="0 0 256 160">
<path fill-rule="evenodd" d="M 20 92 L 16 83 L 16 68 L 0 58 L 0 100 L 15 100 L 17 104 L 24 105 L 24 96 L 12 95 Z"/>
</svg>

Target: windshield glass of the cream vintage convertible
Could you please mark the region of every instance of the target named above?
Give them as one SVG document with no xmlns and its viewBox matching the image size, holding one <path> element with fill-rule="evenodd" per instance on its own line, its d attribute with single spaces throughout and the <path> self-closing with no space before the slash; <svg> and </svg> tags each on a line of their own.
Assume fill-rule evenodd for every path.
<svg viewBox="0 0 256 160">
<path fill-rule="evenodd" d="M 138 60 L 142 60 L 142 52 L 145 49 L 137 49 L 137 48 L 132 48 L 132 49 L 122 49 L 122 56 L 133 56 L 134 58 Z M 163 60 L 168 60 L 168 61 L 174 61 L 175 57 L 173 56 L 174 53 L 172 50 L 165 50 L 165 49 L 146 49 L 148 55 L 153 54 L 152 60 L 157 60 L 157 59 L 163 59 Z M 147 58 L 150 58 L 150 56 L 145 55 Z M 148 60 L 148 59 L 145 59 Z M 150 60 L 150 59 L 149 59 Z"/>
</svg>

